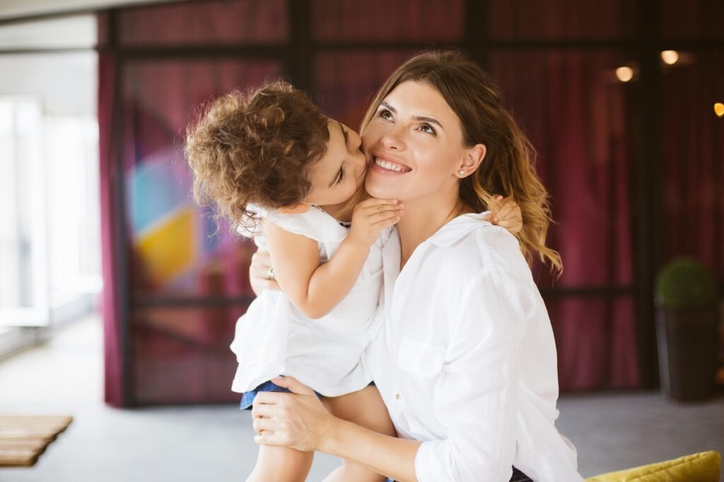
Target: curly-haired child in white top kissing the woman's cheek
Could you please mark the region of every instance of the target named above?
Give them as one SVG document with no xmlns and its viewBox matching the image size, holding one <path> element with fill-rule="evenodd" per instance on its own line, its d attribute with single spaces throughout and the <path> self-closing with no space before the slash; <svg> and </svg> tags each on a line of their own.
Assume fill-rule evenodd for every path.
<svg viewBox="0 0 724 482">
<path fill-rule="evenodd" d="M 360 147 L 356 132 L 277 82 L 214 101 L 189 128 L 185 151 L 195 199 L 255 235 L 271 255 L 268 277 L 281 288 L 262 292 L 237 322 L 232 389 L 243 393 L 241 407 L 259 391 L 286 391 L 272 380 L 291 375 L 335 415 L 394 436 L 360 360 L 376 333 L 381 248 L 404 206 L 365 199 Z M 508 212 L 511 204 L 517 209 L 508 203 Z M 303 481 L 312 457 L 260 447 L 248 481 Z M 385 478 L 345 462 L 326 480 Z"/>
</svg>

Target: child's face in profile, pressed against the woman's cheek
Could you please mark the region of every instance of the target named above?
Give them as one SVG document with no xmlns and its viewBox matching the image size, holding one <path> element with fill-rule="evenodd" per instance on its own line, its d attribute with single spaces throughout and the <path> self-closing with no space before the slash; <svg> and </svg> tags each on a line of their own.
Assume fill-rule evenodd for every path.
<svg viewBox="0 0 724 482">
<path fill-rule="evenodd" d="M 327 153 L 308 172 L 312 185 L 304 202 L 316 206 L 334 206 L 352 198 L 364 184 L 367 167 L 357 132 L 333 119 L 327 129 Z"/>
</svg>

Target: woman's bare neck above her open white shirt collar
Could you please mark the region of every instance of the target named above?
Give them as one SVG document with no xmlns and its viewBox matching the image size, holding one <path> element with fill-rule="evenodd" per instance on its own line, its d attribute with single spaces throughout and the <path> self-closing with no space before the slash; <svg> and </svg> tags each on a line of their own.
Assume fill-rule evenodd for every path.
<svg viewBox="0 0 724 482">
<path fill-rule="evenodd" d="M 427 198 L 405 200 L 405 215 L 397 223 L 401 248 L 400 269 L 405 266 L 416 248 L 438 229 L 461 214 L 471 212 L 473 209 L 461 203 L 457 193 L 455 198 L 443 203 Z"/>
</svg>

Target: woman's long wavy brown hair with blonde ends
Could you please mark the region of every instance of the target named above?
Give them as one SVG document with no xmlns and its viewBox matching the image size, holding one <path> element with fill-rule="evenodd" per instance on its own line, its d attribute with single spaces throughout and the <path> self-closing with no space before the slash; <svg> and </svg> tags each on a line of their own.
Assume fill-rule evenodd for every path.
<svg viewBox="0 0 724 482">
<path fill-rule="evenodd" d="M 510 112 L 492 79 L 475 62 L 456 51 L 428 51 L 397 68 L 377 92 L 360 132 L 369 125 L 379 104 L 397 85 L 412 80 L 435 88 L 463 127 L 467 146 L 484 144 L 487 154 L 476 172 L 460 180 L 460 200 L 478 212 L 488 209 L 491 194 L 513 196 L 523 213 L 517 234 L 529 263 L 534 257 L 562 271 L 560 255 L 547 248 L 550 223 L 548 193 L 535 170 L 535 151 Z"/>
</svg>

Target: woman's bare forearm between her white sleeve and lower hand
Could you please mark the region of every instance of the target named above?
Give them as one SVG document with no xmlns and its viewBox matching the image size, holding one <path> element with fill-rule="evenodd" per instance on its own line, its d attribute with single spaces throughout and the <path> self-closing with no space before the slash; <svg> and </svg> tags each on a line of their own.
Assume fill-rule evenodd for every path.
<svg viewBox="0 0 724 482">
<path fill-rule="evenodd" d="M 319 450 L 351 460 L 398 482 L 416 482 L 415 457 L 421 442 L 378 434 L 339 418 Z"/>
</svg>

